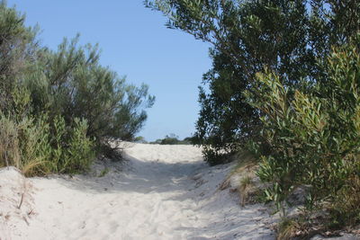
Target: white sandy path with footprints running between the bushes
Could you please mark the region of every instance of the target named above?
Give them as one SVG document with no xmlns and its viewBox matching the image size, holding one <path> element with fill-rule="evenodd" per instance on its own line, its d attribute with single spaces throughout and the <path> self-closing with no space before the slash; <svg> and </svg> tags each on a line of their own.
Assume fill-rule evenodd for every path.
<svg viewBox="0 0 360 240">
<path fill-rule="evenodd" d="M 104 177 L 25 181 L 2 169 L 0 239 L 275 239 L 264 207 L 241 208 L 237 193 L 218 190 L 231 165 L 209 167 L 191 146 L 125 153 L 130 161 Z"/>
</svg>

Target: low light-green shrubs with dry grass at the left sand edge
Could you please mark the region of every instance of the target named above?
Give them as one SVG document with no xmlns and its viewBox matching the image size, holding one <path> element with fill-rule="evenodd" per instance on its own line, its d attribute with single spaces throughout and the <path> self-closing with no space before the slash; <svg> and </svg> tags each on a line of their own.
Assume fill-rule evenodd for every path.
<svg viewBox="0 0 360 240">
<path fill-rule="evenodd" d="M 56 133 L 50 134 L 49 117 L 25 118 L 20 122 L 0 116 L 0 165 L 14 165 L 27 176 L 48 173 L 82 173 L 94 158 L 94 142 L 86 137 L 86 121 L 74 128 L 58 117 Z"/>
</svg>

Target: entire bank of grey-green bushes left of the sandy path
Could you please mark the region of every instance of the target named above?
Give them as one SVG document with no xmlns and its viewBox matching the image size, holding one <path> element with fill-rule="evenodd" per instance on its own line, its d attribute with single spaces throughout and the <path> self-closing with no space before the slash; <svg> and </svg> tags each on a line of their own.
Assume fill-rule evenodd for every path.
<svg viewBox="0 0 360 240">
<path fill-rule="evenodd" d="M 0 165 L 27 175 L 86 171 L 95 155 L 113 156 L 112 138 L 130 140 L 154 97 L 101 66 L 97 46 L 78 37 L 58 50 L 0 3 Z"/>
</svg>

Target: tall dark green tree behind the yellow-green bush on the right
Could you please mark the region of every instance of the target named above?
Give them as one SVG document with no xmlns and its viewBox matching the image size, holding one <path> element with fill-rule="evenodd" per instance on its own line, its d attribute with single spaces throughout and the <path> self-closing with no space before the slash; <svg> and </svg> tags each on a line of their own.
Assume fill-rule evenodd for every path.
<svg viewBox="0 0 360 240">
<path fill-rule="evenodd" d="M 261 142 L 260 112 L 247 103 L 257 72 L 275 72 L 286 87 L 301 79 L 316 81 L 316 58 L 341 45 L 360 26 L 356 0 L 148 0 L 164 13 L 166 26 L 212 45 L 212 68 L 203 76 L 196 123 L 196 143 L 205 160 L 220 164 L 221 155 Z M 266 146 L 263 145 L 266 149 Z M 210 159 L 214 157 L 214 159 Z"/>
</svg>

